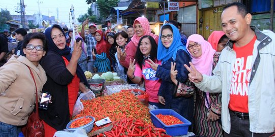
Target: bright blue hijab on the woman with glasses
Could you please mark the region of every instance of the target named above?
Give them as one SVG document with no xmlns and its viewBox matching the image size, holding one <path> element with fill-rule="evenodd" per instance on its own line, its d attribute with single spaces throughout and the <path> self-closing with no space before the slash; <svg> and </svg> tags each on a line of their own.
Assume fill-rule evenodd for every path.
<svg viewBox="0 0 275 137">
<path fill-rule="evenodd" d="M 173 29 L 173 42 L 169 48 L 164 47 L 160 39 L 162 35 L 162 27 L 166 25 L 170 25 Z M 189 55 L 189 53 L 186 50 L 186 47 L 181 43 L 178 28 L 172 24 L 164 24 L 163 26 L 161 27 L 161 31 L 159 32 L 157 60 L 161 60 L 161 63 L 166 63 L 171 57 L 174 60 L 176 60 L 177 51 L 180 49 L 183 49 Z"/>
</svg>

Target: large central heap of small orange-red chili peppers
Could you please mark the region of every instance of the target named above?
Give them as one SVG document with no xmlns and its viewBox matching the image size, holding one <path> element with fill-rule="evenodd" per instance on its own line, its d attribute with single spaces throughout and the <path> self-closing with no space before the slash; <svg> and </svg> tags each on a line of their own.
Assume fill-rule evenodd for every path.
<svg viewBox="0 0 275 137">
<path fill-rule="evenodd" d="M 74 118 L 92 116 L 95 121 L 109 117 L 112 122 L 120 121 L 125 118 L 141 120 L 142 123 L 152 125 L 148 107 L 142 104 L 131 93 L 131 90 L 124 90 L 108 96 L 98 97 L 92 100 L 81 100 L 84 110 Z M 93 130 L 108 126 L 97 127 L 94 124 Z"/>
</svg>

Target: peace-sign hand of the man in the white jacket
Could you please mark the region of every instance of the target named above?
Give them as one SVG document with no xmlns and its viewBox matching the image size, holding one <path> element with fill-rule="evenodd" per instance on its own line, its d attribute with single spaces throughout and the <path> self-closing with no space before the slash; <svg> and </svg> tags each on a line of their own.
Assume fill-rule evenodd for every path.
<svg viewBox="0 0 275 137">
<path fill-rule="evenodd" d="M 203 80 L 202 74 L 196 70 L 193 63 L 189 62 L 189 64 L 190 64 L 190 67 L 187 66 L 186 64 L 184 64 L 184 67 L 189 72 L 189 74 L 188 74 L 189 80 L 191 82 L 195 82 L 195 83 L 201 82 Z"/>
</svg>

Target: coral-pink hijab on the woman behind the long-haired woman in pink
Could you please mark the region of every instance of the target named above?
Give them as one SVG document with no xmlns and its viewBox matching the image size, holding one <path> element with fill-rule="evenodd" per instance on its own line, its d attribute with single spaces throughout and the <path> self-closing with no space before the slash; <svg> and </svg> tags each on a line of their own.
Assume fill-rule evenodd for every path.
<svg viewBox="0 0 275 137">
<path fill-rule="evenodd" d="M 138 17 L 134 20 L 133 26 L 135 23 L 140 23 L 142 25 L 143 28 L 143 36 L 149 35 L 152 36 L 154 39 L 156 39 L 158 36 L 154 35 L 153 33 L 151 33 L 151 28 L 150 28 L 150 24 L 147 18 L 145 17 Z M 140 39 L 143 37 L 138 37 L 136 36 L 136 32 L 134 32 L 133 37 L 131 38 L 131 41 L 134 43 L 135 46 L 137 46 L 137 44 L 139 44 Z"/>
</svg>

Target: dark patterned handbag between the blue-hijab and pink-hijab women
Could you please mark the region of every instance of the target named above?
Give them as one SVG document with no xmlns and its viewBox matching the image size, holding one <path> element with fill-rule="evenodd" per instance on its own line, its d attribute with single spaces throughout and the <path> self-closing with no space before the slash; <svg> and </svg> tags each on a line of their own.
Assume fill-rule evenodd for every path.
<svg viewBox="0 0 275 137">
<path fill-rule="evenodd" d="M 186 80 L 184 83 L 180 83 L 178 81 L 178 86 L 174 90 L 174 96 L 176 97 L 191 97 L 194 95 L 195 92 L 195 85 L 190 80 Z"/>
</svg>

